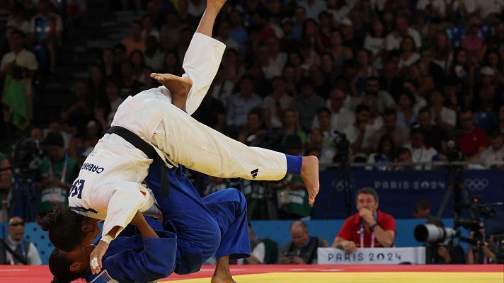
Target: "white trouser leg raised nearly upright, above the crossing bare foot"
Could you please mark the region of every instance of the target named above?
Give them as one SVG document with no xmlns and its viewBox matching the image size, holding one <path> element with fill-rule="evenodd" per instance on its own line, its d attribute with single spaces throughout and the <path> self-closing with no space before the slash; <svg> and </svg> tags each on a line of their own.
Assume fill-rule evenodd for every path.
<svg viewBox="0 0 504 283">
<path fill-rule="evenodd" d="M 182 76 L 193 80 L 185 107 L 189 115 L 196 111 L 205 98 L 208 88 L 219 70 L 225 49 L 226 45 L 219 40 L 202 33 L 193 35 L 193 40 L 185 52 L 182 64 L 185 71 Z"/>
</svg>

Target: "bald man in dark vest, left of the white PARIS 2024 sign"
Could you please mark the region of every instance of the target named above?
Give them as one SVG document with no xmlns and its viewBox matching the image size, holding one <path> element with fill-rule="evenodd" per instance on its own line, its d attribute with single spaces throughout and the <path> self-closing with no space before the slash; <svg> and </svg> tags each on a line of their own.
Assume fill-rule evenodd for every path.
<svg viewBox="0 0 504 283">
<path fill-rule="evenodd" d="M 317 249 L 326 248 L 328 243 L 323 238 L 309 236 L 307 224 L 294 221 L 290 225 L 292 240 L 282 249 L 282 264 L 311 265 L 316 264 Z"/>
</svg>

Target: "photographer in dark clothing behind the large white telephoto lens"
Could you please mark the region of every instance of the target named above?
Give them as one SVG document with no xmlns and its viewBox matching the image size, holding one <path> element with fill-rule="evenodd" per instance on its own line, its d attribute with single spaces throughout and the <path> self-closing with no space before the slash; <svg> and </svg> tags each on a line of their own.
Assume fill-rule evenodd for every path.
<svg viewBox="0 0 504 283">
<path fill-rule="evenodd" d="M 445 228 L 445 224 L 439 219 L 428 219 L 427 224 Z M 464 249 L 452 239 L 443 243 L 428 243 L 426 245 L 427 260 L 429 264 L 434 265 L 461 265 L 466 263 Z"/>
</svg>

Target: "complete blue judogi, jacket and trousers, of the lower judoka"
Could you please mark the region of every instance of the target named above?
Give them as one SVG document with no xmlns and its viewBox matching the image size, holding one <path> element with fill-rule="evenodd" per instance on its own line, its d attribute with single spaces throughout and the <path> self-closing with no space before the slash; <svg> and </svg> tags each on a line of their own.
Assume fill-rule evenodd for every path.
<svg viewBox="0 0 504 283">
<path fill-rule="evenodd" d="M 170 196 L 161 198 L 160 166 L 165 165 L 154 161 L 146 178 L 167 219 L 162 226 L 160 221 L 149 221 L 159 238 L 124 236 L 123 231 L 110 242 L 100 274 L 86 270 L 88 282 L 149 282 L 172 272 L 197 272 L 212 255 L 231 259 L 250 255 L 246 200 L 239 190 L 222 190 L 202 199 L 179 166 L 167 170 Z"/>
</svg>

